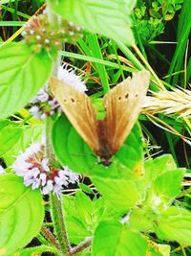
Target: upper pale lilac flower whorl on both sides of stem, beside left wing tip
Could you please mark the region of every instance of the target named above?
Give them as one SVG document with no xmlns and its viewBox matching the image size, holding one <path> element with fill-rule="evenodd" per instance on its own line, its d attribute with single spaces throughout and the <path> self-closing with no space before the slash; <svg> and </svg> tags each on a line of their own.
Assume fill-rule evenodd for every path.
<svg viewBox="0 0 191 256">
<path fill-rule="evenodd" d="M 58 68 L 58 79 L 74 86 L 75 89 L 81 92 L 87 90 L 85 82 L 81 80 L 81 76 L 75 75 L 74 69 L 68 68 L 67 64 Z M 47 85 L 40 89 L 37 96 L 32 100 L 32 107 L 29 110 L 36 119 L 45 119 L 54 113 L 61 112 L 61 108 L 53 98 L 53 94 L 48 92 Z"/>
</svg>

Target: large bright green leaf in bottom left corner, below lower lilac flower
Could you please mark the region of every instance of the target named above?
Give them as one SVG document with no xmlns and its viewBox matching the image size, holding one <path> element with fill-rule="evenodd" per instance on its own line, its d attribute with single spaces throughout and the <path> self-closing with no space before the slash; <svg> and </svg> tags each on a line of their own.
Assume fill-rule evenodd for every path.
<svg viewBox="0 0 191 256">
<path fill-rule="evenodd" d="M 29 244 L 44 219 L 39 190 L 23 185 L 14 175 L 0 176 L 0 255 L 5 256 Z"/>
</svg>

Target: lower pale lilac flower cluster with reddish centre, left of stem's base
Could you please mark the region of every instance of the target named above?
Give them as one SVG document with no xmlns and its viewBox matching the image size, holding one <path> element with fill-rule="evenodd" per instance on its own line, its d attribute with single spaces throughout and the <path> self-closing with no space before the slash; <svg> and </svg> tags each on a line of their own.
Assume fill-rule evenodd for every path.
<svg viewBox="0 0 191 256">
<path fill-rule="evenodd" d="M 18 155 L 12 169 L 16 175 L 23 177 L 26 186 L 32 186 L 32 190 L 40 188 L 43 195 L 53 191 L 59 198 L 62 186 L 68 187 L 70 183 L 79 182 L 79 175 L 68 167 L 56 169 L 50 165 L 44 156 L 44 148 L 42 143 L 32 144 Z"/>
</svg>

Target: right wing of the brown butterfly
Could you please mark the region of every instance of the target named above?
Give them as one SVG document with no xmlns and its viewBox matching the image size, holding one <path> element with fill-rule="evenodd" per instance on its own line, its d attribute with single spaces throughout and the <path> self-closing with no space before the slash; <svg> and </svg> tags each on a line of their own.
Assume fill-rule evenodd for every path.
<svg viewBox="0 0 191 256">
<path fill-rule="evenodd" d="M 132 79 L 127 78 L 117 84 L 104 96 L 105 133 L 111 154 L 115 154 L 122 146 L 138 120 L 149 79 L 150 75 L 147 71 L 138 72 Z"/>
</svg>

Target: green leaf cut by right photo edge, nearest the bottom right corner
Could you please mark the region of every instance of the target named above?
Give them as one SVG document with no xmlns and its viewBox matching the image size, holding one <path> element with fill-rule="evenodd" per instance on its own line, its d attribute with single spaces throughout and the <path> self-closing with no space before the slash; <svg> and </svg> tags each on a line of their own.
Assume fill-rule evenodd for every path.
<svg viewBox="0 0 191 256">
<path fill-rule="evenodd" d="M 155 231 L 162 240 L 191 245 L 191 213 L 172 206 L 155 221 Z"/>
</svg>

